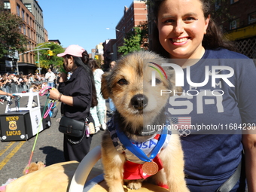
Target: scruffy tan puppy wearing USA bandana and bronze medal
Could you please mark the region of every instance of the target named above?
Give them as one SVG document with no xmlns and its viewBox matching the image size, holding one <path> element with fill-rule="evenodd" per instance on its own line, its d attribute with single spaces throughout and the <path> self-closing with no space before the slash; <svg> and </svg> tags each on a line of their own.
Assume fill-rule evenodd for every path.
<svg viewBox="0 0 256 192">
<path fill-rule="evenodd" d="M 123 192 L 123 184 L 139 189 L 145 179 L 169 187 L 172 192 L 189 191 L 184 180 L 179 136 L 172 131 L 165 138 L 157 126 L 166 123 L 165 106 L 170 96 L 161 96 L 161 90 L 175 89 L 170 83 L 174 72 L 166 72 L 165 76 L 157 68 L 166 62 L 149 51 L 134 52 L 120 58 L 114 69 L 102 76 L 102 96 L 110 97 L 117 109 L 102 138 L 102 164 L 109 192 Z M 170 69 L 164 69 L 167 70 Z M 152 74 L 155 86 L 152 86 Z M 154 148 L 161 138 L 163 147 L 156 152 Z M 131 152 L 130 144 L 150 160 Z"/>
</svg>

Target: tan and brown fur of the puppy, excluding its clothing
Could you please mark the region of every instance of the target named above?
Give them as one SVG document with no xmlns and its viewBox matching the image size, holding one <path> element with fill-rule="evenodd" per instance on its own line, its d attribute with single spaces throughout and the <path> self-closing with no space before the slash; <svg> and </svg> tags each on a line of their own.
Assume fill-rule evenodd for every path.
<svg viewBox="0 0 256 192">
<path fill-rule="evenodd" d="M 173 72 L 169 72 L 168 81 L 157 77 L 157 86 L 151 86 L 152 68 L 148 67 L 148 59 L 158 63 L 166 60 L 149 51 L 139 51 L 123 56 L 117 61 L 111 72 L 102 75 L 102 96 L 110 97 L 117 111 L 114 120 L 120 125 L 120 130 L 136 142 L 145 142 L 151 136 L 141 136 L 143 126 L 161 125 L 165 123 L 164 107 L 169 94 L 160 96 L 160 90 L 174 90 Z M 158 74 L 157 74 L 158 75 Z M 134 100 L 144 99 L 143 106 L 136 105 Z M 184 160 L 181 142 L 178 134 L 172 134 L 169 144 L 160 151 L 160 160 L 163 169 L 152 175 L 150 179 L 156 184 L 167 184 L 169 191 L 187 192 L 184 180 Z M 105 172 L 105 181 L 109 192 L 123 191 L 123 164 L 126 158 L 114 148 L 108 131 L 102 138 L 102 164 Z M 143 179 L 126 180 L 127 187 L 139 189 Z"/>
</svg>

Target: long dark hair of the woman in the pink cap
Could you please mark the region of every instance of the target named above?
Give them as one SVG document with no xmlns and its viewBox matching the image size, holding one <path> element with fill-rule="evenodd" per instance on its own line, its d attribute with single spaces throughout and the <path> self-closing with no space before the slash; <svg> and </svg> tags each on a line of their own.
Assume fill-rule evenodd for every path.
<svg viewBox="0 0 256 192">
<path fill-rule="evenodd" d="M 70 58 L 72 55 L 66 55 L 65 59 Z M 87 72 L 87 74 L 89 74 L 89 79 L 91 81 L 92 84 L 92 102 L 91 102 L 91 107 L 95 107 L 96 105 L 98 105 L 98 100 L 97 100 L 97 95 L 96 95 L 96 87 L 95 87 L 95 83 L 94 83 L 94 78 L 93 78 L 93 72 L 90 69 L 90 67 L 88 66 L 88 62 L 89 62 L 89 54 L 87 53 L 87 50 L 84 50 L 84 52 L 82 53 L 82 57 L 78 57 L 78 56 L 72 56 L 74 58 L 75 64 L 77 66 L 82 66 L 85 69 L 85 72 Z"/>
</svg>

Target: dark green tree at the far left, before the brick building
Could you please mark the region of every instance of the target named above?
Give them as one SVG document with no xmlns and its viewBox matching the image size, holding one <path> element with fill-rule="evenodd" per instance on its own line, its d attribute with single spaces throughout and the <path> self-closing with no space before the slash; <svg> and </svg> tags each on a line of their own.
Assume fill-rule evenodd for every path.
<svg viewBox="0 0 256 192">
<path fill-rule="evenodd" d="M 0 58 L 13 54 L 14 50 L 23 53 L 26 50 L 28 39 L 20 32 L 23 20 L 10 11 L 5 10 L 0 1 Z"/>
</svg>

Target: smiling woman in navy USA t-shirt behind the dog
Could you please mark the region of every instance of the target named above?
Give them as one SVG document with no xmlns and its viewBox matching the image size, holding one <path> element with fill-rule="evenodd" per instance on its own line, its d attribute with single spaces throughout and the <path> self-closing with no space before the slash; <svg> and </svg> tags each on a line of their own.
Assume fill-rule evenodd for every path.
<svg viewBox="0 0 256 192">
<path fill-rule="evenodd" d="M 244 151 L 248 191 L 256 191 L 256 135 L 248 134 L 249 129 L 255 129 L 256 123 L 256 81 L 253 78 L 256 76 L 256 69 L 251 59 L 231 51 L 232 44 L 225 41 L 221 29 L 218 29 L 212 20 L 210 11 L 212 9 L 209 1 L 154 1 L 156 25 L 152 47 L 155 52 L 175 59 L 172 61 L 178 63 L 184 72 L 187 72 L 189 66 L 192 82 L 205 80 L 205 69 L 206 66 L 212 65 L 212 59 L 218 59 L 216 66 L 230 66 L 234 70 L 234 75 L 229 78 L 234 87 L 228 86 L 220 79 L 216 80 L 216 86 L 221 83 L 217 90 L 224 93 L 223 95 L 213 96 L 211 91 L 215 87 L 211 83 L 203 87 L 190 87 L 185 80 L 184 93 L 187 90 L 199 93 L 202 93 L 201 90 L 207 90 L 203 104 L 197 95 L 175 95 L 170 98 L 167 106 L 170 115 L 190 117 L 191 125 L 244 125 L 245 129 L 243 135 L 241 130 L 235 134 L 222 132 L 218 135 L 214 134 L 217 133 L 215 130 L 211 134 L 196 132 L 186 137 L 181 136 L 187 186 L 191 192 L 245 191 L 245 178 L 242 178 L 242 174 L 241 177 L 238 175 L 237 179 L 232 177 L 239 167 Z M 218 73 L 228 74 L 227 70 Z M 250 123 L 252 126 L 249 126 Z M 229 178 L 234 182 L 233 188 L 224 184 Z M 226 190 L 218 190 L 222 184 Z"/>
</svg>

